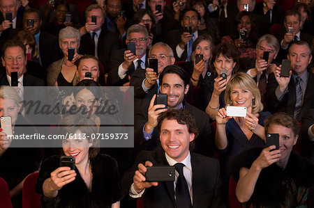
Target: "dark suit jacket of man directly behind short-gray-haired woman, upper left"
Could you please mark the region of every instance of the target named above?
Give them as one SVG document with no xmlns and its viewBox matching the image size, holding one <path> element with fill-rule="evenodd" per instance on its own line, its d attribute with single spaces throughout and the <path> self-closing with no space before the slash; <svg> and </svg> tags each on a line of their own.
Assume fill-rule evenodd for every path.
<svg viewBox="0 0 314 208">
<path fill-rule="evenodd" d="M 109 71 L 110 55 L 114 50 L 119 49 L 117 35 L 102 29 L 98 38 L 97 54 L 100 63 L 105 67 L 105 73 Z M 81 38 L 79 54 L 94 54 L 90 33 L 85 33 Z"/>
</svg>

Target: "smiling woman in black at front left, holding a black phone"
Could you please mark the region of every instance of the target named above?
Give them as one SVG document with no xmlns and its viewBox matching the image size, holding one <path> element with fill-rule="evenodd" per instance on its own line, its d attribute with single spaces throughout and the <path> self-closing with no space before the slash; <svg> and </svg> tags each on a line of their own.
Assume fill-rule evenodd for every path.
<svg viewBox="0 0 314 208">
<path fill-rule="evenodd" d="M 59 123 L 59 134 L 85 135 L 85 139 L 66 138 L 60 156 L 46 159 L 40 166 L 36 191 L 44 207 L 119 207 L 121 198 L 117 161 L 98 154 L 94 121 L 80 115 L 69 115 Z M 61 155 L 75 157 L 75 169 L 60 167 Z"/>
</svg>

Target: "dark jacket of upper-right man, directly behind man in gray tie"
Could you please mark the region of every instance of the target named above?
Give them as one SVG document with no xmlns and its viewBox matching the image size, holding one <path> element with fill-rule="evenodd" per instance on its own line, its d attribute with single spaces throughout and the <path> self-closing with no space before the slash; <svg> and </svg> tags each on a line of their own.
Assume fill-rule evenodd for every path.
<svg viewBox="0 0 314 208">
<path fill-rule="evenodd" d="M 281 40 L 283 40 L 283 38 L 284 38 L 284 36 L 285 36 L 285 33 L 287 33 L 287 32 L 285 31 L 285 28 L 281 28 L 279 31 L 276 32 L 275 36 L 276 36 L 276 38 L 278 39 L 279 44 L 281 44 Z M 313 40 L 314 40 L 314 36 L 313 36 L 313 35 L 309 35 L 309 34 L 307 34 L 307 33 L 302 33 L 302 32 L 301 32 L 301 33 L 300 33 L 300 40 L 304 40 L 304 41 L 307 42 L 308 45 L 310 45 L 310 47 L 311 47 L 311 45 L 312 45 L 312 43 L 313 43 Z M 290 44 L 291 44 L 291 42 L 290 42 Z M 287 49 L 282 49 L 282 48 L 279 49 L 278 55 L 277 55 L 277 57 L 276 57 L 276 61 L 277 61 L 278 63 L 281 63 L 281 61 L 282 61 L 283 59 L 287 59 L 287 54 L 288 54 L 288 52 L 289 52 L 288 49 L 289 49 L 289 47 L 288 47 Z"/>
</svg>

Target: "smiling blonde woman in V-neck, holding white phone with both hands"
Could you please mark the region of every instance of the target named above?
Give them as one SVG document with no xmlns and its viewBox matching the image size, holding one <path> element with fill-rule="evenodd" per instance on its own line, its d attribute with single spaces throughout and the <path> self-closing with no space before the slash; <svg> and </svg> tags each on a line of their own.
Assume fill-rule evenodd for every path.
<svg viewBox="0 0 314 208">
<path fill-rule="evenodd" d="M 225 89 L 225 104 L 227 106 L 246 107 L 246 117 L 227 116 L 226 108 L 219 109 L 216 114 L 215 143 L 222 150 L 225 165 L 230 157 L 241 150 L 265 144 L 264 120 L 269 118 L 269 112 L 261 112 L 260 90 L 250 75 L 238 72 L 233 74 Z M 228 178 L 229 179 L 229 178 Z"/>
</svg>

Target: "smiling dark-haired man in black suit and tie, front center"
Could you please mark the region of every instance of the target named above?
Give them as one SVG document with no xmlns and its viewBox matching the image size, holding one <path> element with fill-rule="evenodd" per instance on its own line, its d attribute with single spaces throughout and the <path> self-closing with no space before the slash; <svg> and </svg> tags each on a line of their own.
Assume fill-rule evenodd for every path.
<svg viewBox="0 0 314 208">
<path fill-rule="evenodd" d="M 151 208 L 225 207 L 218 161 L 190 152 L 197 136 L 195 120 L 190 113 L 185 109 L 161 113 L 158 131 L 163 148 L 141 152 L 134 167 L 138 170 L 128 173 L 122 180 L 130 197 L 143 197 L 144 207 Z M 174 182 L 146 182 L 147 166 L 174 166 Z"/>
</svg>

